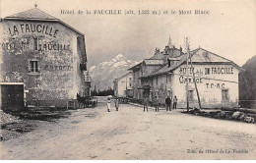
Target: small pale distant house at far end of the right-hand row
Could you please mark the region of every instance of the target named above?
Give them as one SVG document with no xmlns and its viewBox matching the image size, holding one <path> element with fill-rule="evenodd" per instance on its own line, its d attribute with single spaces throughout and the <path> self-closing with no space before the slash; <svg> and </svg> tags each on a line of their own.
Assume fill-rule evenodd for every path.
<svg viewBox="0 0 256 163">
<path fill-rule="evenodd" d="M 133 97 L 132 72 L 114 80 L 114 95 L 116 97 Z"/>
</svg>

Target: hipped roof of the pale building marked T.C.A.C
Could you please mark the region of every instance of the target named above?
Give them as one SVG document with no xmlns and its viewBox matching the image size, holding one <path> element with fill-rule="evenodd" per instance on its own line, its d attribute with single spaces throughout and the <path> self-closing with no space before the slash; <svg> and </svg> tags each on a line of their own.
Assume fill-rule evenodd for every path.
<svg viewBox="0 0 256 163">
<path fill-rule="evenodd" d="M 215 53 L 212 53 L 210 51 L 207 51 L 203 48 L 198 48 L 195 50 L 192 50 L 191 52 L 191 60 L 194 64 L 226 64 L 226 65 L 233 65 L 238 70 L 242 70 L 238 65 L 233 63 L 232 61 L 225 59 L 222 56 L 219 56 Z M 168 64 L 164 64 L 159 70 L 154 72 L 151 75 L 145 76 L 143 78 L 152 77 L 152 76 L 158 76 L 162 74 L 167 74 L 169 72 L 174 71 L 176 68 L 181 66 L 183 63 L 187 61 L 187 54 L 181 55 L 180 60 L 172 60 L 174 61 L 170 67 L 168 67 Z M 190 62 L 189 62 L 190 64 Z"/>
</svg>

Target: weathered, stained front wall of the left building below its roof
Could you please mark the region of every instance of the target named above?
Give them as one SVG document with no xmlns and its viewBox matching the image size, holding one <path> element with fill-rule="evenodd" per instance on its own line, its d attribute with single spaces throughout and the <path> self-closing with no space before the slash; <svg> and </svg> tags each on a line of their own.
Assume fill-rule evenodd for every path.
<svg viewBox="0 0 256 163">
<path fill-rule="evenodd" d="M 75 31 L 58 23 L 3 21 L 1 33 L 0 82 L 23 82 L 28 103 L 76 98 L 84 83 Z"/>
</svg>

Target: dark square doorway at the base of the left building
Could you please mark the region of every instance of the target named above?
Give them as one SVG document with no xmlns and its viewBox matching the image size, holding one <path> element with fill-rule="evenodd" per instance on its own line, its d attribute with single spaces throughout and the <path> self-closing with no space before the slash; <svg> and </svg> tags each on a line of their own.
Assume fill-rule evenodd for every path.
<svg viewBox="0 0 256 163">
<path fill-rule="evenodd" d="M 2 110 L 19 110 L 24 108 L 24 85 L 1 85 Z"/>
</svg>

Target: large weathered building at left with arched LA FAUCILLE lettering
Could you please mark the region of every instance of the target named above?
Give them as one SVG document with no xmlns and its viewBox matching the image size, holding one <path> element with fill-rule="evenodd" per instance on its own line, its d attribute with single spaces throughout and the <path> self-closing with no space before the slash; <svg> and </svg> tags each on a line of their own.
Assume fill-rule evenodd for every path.
<svg viewBox="0 0 256 163">
<path fill-rule="evenodd" d="M 89 95 L 85 35 L 41 10 L 0 22 L 2 108 L 65 106 Z"/>
</svg>

